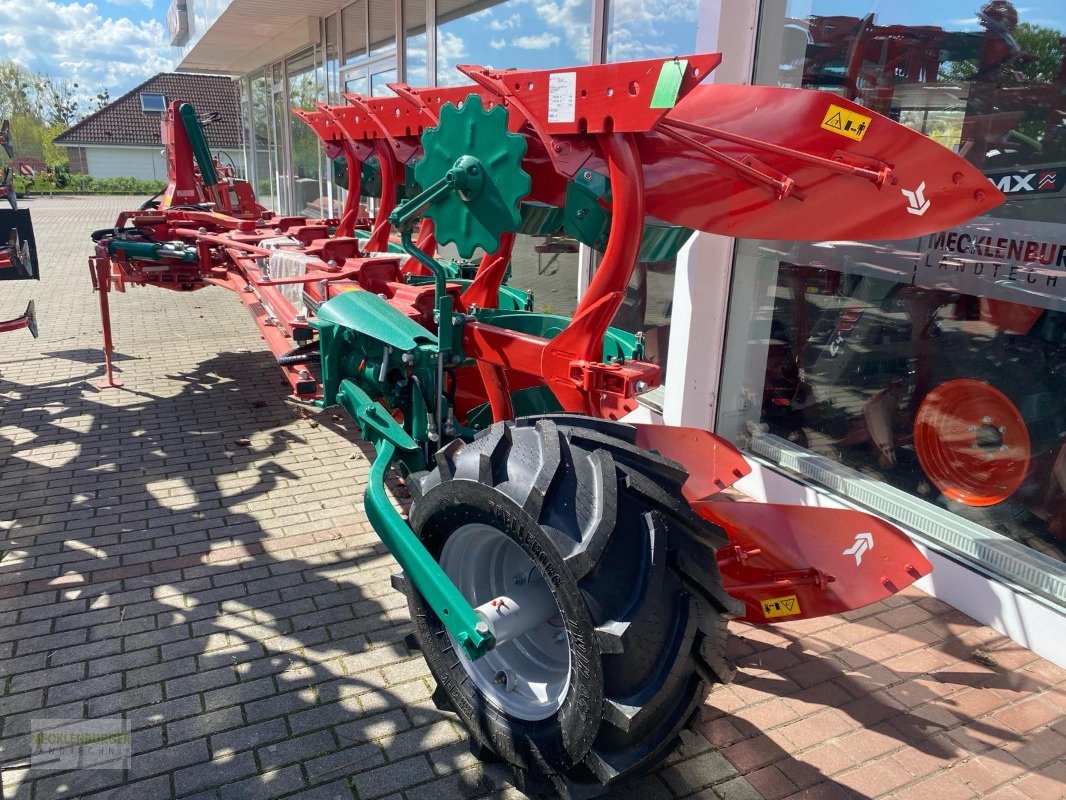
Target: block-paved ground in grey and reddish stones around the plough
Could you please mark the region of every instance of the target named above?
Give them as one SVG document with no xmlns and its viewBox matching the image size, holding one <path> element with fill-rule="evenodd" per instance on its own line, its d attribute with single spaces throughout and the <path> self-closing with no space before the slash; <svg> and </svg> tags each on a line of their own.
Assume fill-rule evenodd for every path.
<svg viewBox="0 0 1066 800">
<path fill-rule="evenodd" d="M 99 390 L 92 229 L 135 198 L 36 198 L 42 336 L 0 337 L 3 798 L 523 797 L 467 752 L 403 644 L 351 425 L 285 401 L 220 289 L 112 294 Z M 1066 796 L 1066 672 L 917 590 L 732 626 L 737 683 L 627 798 Z M 28 769 L 31 720 L 124 717 L 131 768 Z"/>
</svg>

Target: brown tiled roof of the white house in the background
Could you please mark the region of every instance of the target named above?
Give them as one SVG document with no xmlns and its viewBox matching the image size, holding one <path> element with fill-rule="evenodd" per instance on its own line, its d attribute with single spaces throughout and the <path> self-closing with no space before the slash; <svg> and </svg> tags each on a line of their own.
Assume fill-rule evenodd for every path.
<svg viewBox="0 0 1066 800">
<path fill-rule="evenodd" d="M 56 144 L 162 145 L 160 114 L 141 110 L 141 94 L 161 94 L 166 102 L 188 100 L 200 114 L 212 111 L 222 118 L 205 130 L 212 147 L 241 146 L 241 106 L 237 84 L 221 75 L 160 73 L 131 89 L 55 138 Z"/>
</svg>

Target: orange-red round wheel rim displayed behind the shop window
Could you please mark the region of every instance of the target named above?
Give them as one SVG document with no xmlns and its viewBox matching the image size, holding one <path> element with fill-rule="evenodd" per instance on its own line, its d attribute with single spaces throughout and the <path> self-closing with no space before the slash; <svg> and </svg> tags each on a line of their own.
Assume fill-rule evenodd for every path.
<svg viewBox="0 0 1066 800">
<path fill-rule="evenodd" d="M 1029 429 L 1017 406 L 983 381 L 948 381 L 915 418 L 915 451 L 930 481 L 956 502 L 983 508 L 1018 491 L 1029 471 Z"/>
</svg>

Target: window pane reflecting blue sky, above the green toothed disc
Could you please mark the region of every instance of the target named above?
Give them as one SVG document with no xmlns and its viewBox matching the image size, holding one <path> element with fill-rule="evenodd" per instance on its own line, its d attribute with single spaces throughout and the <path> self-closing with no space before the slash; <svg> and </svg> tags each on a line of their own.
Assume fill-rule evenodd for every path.
<svg viewBox="0 0 1066 800">
<path fill-rule="evenodd" d="M 548 69 L 592 58 L 592 0 L 437 2 L 437 84 L 470 82 L 456 64 Z"/>
</svg>

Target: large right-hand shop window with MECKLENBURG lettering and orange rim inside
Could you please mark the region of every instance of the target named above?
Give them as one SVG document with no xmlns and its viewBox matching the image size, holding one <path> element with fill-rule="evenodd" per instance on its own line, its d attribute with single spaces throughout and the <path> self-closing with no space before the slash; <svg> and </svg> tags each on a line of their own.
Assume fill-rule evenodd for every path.
<svg viewBox="0 0 1066 800">
<path fill-rule="evenodd" d="M 763 3 L 756 82 L 897 119 L 1007 201 L 917 240 L 738 241 L 718 404 L 720 432 L 764 458 L 800 471 L 827 459 L 857 501 L 918 530 L 925 509 L 946 534 L 1002 534 L 1031 548 L 1002 551 L 1053 570 L 1066 554 L 1064 32 L 1060 0 Z"/>
</svg>

